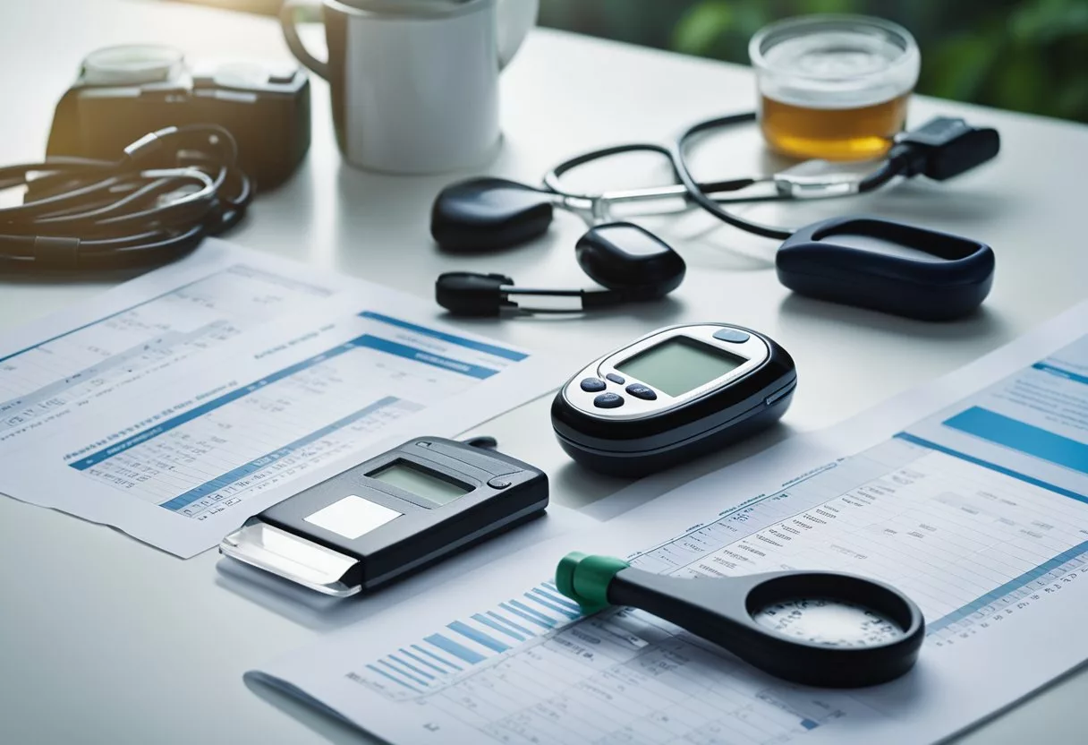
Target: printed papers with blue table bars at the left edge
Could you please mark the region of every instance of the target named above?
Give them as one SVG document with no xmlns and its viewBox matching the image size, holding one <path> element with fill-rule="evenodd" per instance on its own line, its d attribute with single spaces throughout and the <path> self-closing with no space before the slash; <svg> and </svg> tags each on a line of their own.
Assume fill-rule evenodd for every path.
<svg viewBox="0 0 1088 745">
<path fill-rule="evenodd" d="M 561 382 L 433 315 L 207 241 L 0 340 L 0 492 L 190 557 L 380 444 L 457 435 Z"/>
</svg>

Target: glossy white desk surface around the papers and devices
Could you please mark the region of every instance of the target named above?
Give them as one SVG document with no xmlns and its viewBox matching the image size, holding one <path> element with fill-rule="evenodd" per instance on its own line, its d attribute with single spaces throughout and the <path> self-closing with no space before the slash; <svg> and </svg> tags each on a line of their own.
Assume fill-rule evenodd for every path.
<svg viewBox="0 0 1088 745">
<path fill-rule="evenodd" d="M 2 5 L 4 164 L 42 155 L 53 105 L 81 58 L 95 48 L 158 41 L 194 58 L 287 54 L 269 19 L 123 0 L 7 0 Z M 687 122 L 750 109 L 753 101 L 752 76 L 743 68 L 537 32 L 504 73 L 506 143 L 485 170 L 535 182 L 546 167 L 571 154 L 659 139 Z M 801 380 L 788 426 L 714 463 L 679 469 L 677 480 L 763 447 L 789 428 L 830 425 L 952 370 L 1088 294 L 1088 127 L 925 99 L 915 101 L 912 119 L 938 111 L 997 126 L 999 159 L 947 184 L 912 184 L 862 205 L 819 209 L 874 211 L 990 243 L 998 254 L 993 292 L 982 312 L 967 320 L 926 325 L 792 297 L 775 279 L 769 242 L 729 229 L 692 237 L 698 231 L 683 223 L 663 233 L 689 262 L 688 279 L 670 302 L 578 320 L 478 321 L 472 327 L 528 347 L 561 349 L 571 355 L 572 369 L 602 347 L 667 322 L 730 320 L 780 341 L 796 359 Z M 421 297 L 431 295 L 440 271 L 453 268 L 503 270 L 522 283 L 584 281 L 571 251 L 583 227 L 569 216 L 557 219 L 546 240 L 504 255 L 443 256 L 428 234 L 428 216 L 434 194 L 454 176 L 381 176 L 344 166 L 322 81 L 313 83 L 313 145 L 300 172 L 279 192 L 261 196 L 231 240 Z M 728 172 L 766 168 L 754 130 L 738 131 L 730 156 Z M 799 216 L 796 209 L 761 217 L 796 224 L 809 213 Z M 108 285 L 3 280 L 0 329 Z M 497 436 L 505 451 L 548 471 L 557 503 L 585 504 L 623 485 L 582 473 L 567 461 L 549 431 L 545 400 L 483 430 Z M 323 628 L 418 591 L 425 579 L 410 581 L 327 623 L 308 625 L 267 607 L 259 596 L 239 593 L 217 572 L 217 561 L 214 551 L 180 561 L 109 528 L 0 498 L 0 742 L 371 742 L 282 696 L 247 688 L 242 674 Z M 471 563 L 471 558 L 456 561 Z M 1088 674 L 1071 675 L 963 742 L 1025 742 L 1040 734 L 1048 742 L 1083 742 L 1088 711 L 1078 705 L 1086 695 Z"/>
</svg>

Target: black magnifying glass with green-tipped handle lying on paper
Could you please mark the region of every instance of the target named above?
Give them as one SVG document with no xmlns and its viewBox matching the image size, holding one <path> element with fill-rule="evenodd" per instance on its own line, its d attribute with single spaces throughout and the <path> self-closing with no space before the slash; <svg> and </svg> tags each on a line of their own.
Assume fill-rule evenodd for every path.
<svg viewBox="0 0 1088 745">
<path fill-rule="evenodd" d="M 910 598 L 837 572 L 685 579 L 573 552 L 559 562 L 556 587 L 585 613 L 638 608 L 804 685 L 852 688 L 894 680 L 914 665 L 925 639 L 922 611 Z"/>
</svg>

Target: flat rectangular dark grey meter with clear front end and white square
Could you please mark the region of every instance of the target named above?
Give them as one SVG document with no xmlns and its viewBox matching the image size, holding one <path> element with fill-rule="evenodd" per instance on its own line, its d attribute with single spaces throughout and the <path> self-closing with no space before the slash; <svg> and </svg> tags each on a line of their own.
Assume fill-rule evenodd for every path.
<svg viewBox="0 0 1088 745">
<path fill-rule="evenodd" d="M 547 506 L 547 476 L 491 438 L 405 442 L 250 517 L 220 544 L 324 595 L 376 589 Z"/>
</svg>

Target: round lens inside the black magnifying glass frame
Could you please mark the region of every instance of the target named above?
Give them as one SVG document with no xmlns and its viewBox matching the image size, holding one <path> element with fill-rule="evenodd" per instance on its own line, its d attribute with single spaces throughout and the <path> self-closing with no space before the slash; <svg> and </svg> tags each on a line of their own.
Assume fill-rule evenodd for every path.
<svg viewBox="0 0 1088 745">
<path fill-rule="evenodd" d="M 764 628 L 812 644 L 867 647 L 888 644 L 905 632 L 887 615 L 834 598 L 789 598 L 764 606 L 752 614 Z"/>
</svg>

